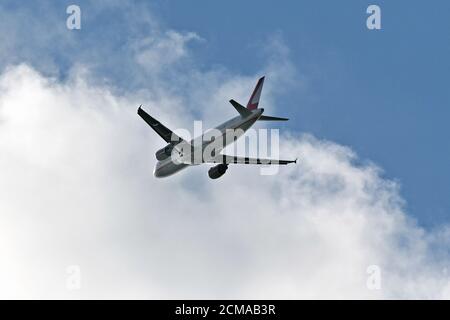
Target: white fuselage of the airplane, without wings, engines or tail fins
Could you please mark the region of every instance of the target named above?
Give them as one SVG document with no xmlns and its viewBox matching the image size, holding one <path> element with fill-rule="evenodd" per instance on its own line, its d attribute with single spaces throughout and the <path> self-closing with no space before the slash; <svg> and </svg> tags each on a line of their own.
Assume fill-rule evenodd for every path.
<svg viewBox="0 0 450 320">
<path fill-rule="evenodd" d="M 228 134 L 228 132 L 230 132 L 230 130 L 235 131 L 235 137 L 239 138 L 256 122 L 256 120 L 258 120 L 258 118 L 262 115 L 263 112 L 264 109 L 255 109 L 252 111 L 250 115 L 246 117 L 242 117 L 241 115 L 239 115 L 214 128 L 220 131 L 220 134 L 222 135 L 223 147 L 234 142 L 233 139 L 227 139 L 225 137 Z M 207 148 L 208 145 L 213 143 L 213 141 L 210 140 L 210 137 L 208 139 L 205 138 L 205 134 L 206 133 L 202 134 L 200 137 L 192 139 L 189 142 L 189 148 L 193 146 L 194 154 L 196 152 L 198 152 L 199 154 L 203 154 L 205 148 Z M 185 146 L 183 144 L 185 144 Z M 177 149 L 188 147 L 187 144 L 188 144 L 187 142 L 181 142 L 180 144 L 177 145 Z M 216 146 L 215 150 L 217 152 L 220 152 L 220 150 Z M 189 162 L 189 159 L 184 159 L 183 155 L 181 155 L 180 157 L 181 158 L 177 159 L 177 161 L 174 161 L 172 157 L 168 157 L 165 160 L 158 161 L 153 170 L 154 176 L 157 178 L 168 177 L 180 170 L 183 170 L 188 166 L 199 164 L 195 162 Z"/>
</svg>

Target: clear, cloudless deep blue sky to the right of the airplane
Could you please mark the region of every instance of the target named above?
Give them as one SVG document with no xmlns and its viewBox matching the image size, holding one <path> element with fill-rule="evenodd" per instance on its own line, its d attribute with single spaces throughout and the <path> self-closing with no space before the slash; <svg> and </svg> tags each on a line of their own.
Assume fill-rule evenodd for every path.
<svg viewBox="0 0 450 320">
<path fill-rule="evenodd" d="M 365 26 L 378 4 L 382 30 Z M 398 179 L 424 225 L 449 220 L 448 1 L 160 1 L 170 26 L 207 40 L 202 62 L 242 72 L 264 60 L 255 44 L 284 37 L 308 89 L 279 96 L 296 130 L 344 145 Z M 270 81 L 270 79 L 268 79 Z"/>
</svg>

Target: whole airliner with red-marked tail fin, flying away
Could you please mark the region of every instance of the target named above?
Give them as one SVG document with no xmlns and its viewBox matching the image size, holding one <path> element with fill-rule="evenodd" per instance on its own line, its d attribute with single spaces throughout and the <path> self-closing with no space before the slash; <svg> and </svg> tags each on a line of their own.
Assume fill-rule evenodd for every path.
<svg viewBox="0 0 450 320">
<path fill-rule="evenodd" d="M 213 138 L 207 138 L 208 134 L 205 132 L 191 141 L 186 141 L 150 116 L 142 109 L 142 105 L 140 105 L 137 110 L 138 115 L 167 143 L 164 148 L 155 153 L 158 161 L 153 170 L 153 175 L 156 178 L 168 177 L 189 166 L 210 163 L 217 165 L 208 170 L 208 175 L 211 179 L 217 179 L 225 174 L 229 164 L 286 165 L 296 163 L 297 159 L 275 160 L 249 158 L 220 153 L 226 145 L 236 141 L 256 121 L 289 120 L 287 118 L 265 116 L 263 115 L 264 109 L 258 108 L 264 78 L 262 77 L 258 80 L 247 103 L 247 107 L 242 106 L 233 99 L 229 101 L 239 115 L 214 128 L 215 132 L 218 132 L 218 136 L 214 136 Z M 229 139 L 228 135 L 230 132 L 233 135 L 233 139 Z M 210 153 L 206 152 L 208 149 L 211 150 Z M 200 157 L 196 157 L 195 155 L 200 155 Z"/>
</svg>

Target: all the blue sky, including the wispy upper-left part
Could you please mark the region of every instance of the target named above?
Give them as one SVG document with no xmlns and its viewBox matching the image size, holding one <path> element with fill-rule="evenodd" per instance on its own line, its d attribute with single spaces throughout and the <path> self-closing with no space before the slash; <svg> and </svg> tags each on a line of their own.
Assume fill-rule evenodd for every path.
<svg viewBox="0 0 450 320">
<path fill-rule="evenodd" d="M 51 45 L 25 35 L 30 41 L 15 40 L 14 47 L 23 50 L 4 61 L 31 61 L 37 66 L 42 60 L 51 61 L 64 77 L 75 63 L 90 59 L 87 52 L 96 51 L 108 57 L 96 62 L 98 73 L 121 88 L 136 81 L 123 48 L 155 26 L 198 34 L 204 41 L 190 47 L 197 68 L 222 66 L 244 75 L 264 69 L 267 54 L 261 48 L 270 37 L 279 36 L 305 82 L 277 96 L 277 105 L 291 118 L 287 126 L 348 145 L 362 159 L 378 164 L 388 178 L 401 184 L 408 211 L 424 226 L 449 220 L 447 1 L 133 3 L 130 13 L 131 9 L 122 11 L 111 2 L 79 1 L 83 27 L 69 34 L 64 24 L 57 23 L 67 17 L 62 3 L 3 3 L 4 15 L 26 12 L 28 21 L 22 20 L 17 28 L 22 33 L 34 23 L 43 33 L 64 34 Z M 366 8 L 372 3 L 382 10 L 379 31 L 365 25 Z M 139 8 L 149 9 L 152 16 L 137 18 Z M 47 18 L 42 20 L 44 13 Z M 45 52 L 44 58 L 34 54 L 38 50 Z M 48 70 L 47 65 L 41 68 Z M 142 82 L 135 87 L 143 87 Z"/>
</svg>

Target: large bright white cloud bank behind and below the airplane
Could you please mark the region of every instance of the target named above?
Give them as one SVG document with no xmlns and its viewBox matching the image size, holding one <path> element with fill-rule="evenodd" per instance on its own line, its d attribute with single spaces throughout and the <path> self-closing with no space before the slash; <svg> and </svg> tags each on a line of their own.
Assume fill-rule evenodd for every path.
<svg viewBox="0 0 450 320">
<path fill-rule="evenodd" d="M 149 90 L 153 113 L 188 122 L 174 110 L 185 97 Z M 157 180 L 163 143 L 136 115 L 144 96 L 83 73 L 1 75 L 0 297 L 448 298 L 448 228 L 418 227 L 398 185 L 349 148 L 292 134 L 282 154 L 301 162 L 279 175 Z M 374 264 L 379 291 L 366 287 Z M 69 265 L 79 291 L 65 287 Z"/>
</svg>

